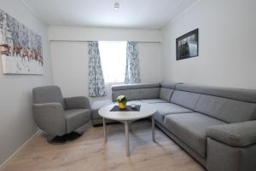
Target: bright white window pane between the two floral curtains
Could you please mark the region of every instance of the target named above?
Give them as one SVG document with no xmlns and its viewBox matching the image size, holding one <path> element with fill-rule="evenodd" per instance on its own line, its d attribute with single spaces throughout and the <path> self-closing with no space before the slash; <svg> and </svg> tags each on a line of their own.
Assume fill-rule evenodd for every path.
<svg viewBox="0 0 256 171">
<path fill-rule="evenodd" d="M 125 82 L 126 42 L 100 41 L 99 50 L 105 83 Z"/>
</svg>

